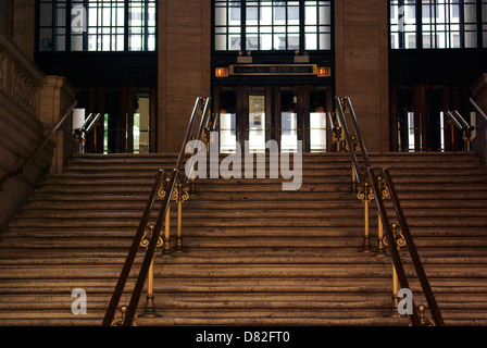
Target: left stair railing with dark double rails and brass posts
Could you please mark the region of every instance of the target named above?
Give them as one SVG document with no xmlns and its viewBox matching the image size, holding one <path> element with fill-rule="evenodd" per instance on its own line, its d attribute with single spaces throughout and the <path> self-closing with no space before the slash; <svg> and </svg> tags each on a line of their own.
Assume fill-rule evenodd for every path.
<svg viewBox="0 0 487 348">
<path fill-rule="evenodd" d="M 210 135 L 208 134 L 212 128 L 214 129 L 215 120 L 211 120 L 212 115 L 210 112 L 210 104 L 211 104 L 211 98 L 203 99 L 201 97 L 197 98 L 195 108 L 191 113 L 191 117 L 188 123 L 188 127 L 185 134 L 185 138 L 183 141 L 182 149 L 179 151 L 176 165 L 174 166 L 172 173 L 170 173 L 168 176 L 164 173 L 163 170 L 160 170 L 157 178 L 152 185 L 152 190 L 149 196 L 149 199 L 147 201 L 146 209 L 143 211 L 142 219 L 140 220 L 139 226 L 137 228 L 136 235 L 133 239 L 132 247 L 129 249 L 128 256 L 125 260 L 124 266 L 122 269 L 122 272 L 120 274 L 117 284 L 115 286 L 114 293 L 112 295 L 112 298 L 110 300 L 109 307 L 107 309 L 102 325 L 123 325 L 123 326 L 130 326 L 134 324 L 134 320 L 136 318 L 136 311 L 138 307 L 138 302 L 140 300 L 140 296 L 146 283 L 146 279 L 148 275 L 150 275 L 150 270 L 153 264 L 154 253 L 158 246 L 161 245 L 161 234 L 162 234 L 162 227 L 165 224 L 166 227 L 166 234 L 164 237 L 164 244 L 165 247 L 168 243 L 168 211 L 170 211 L 170 203 L 171 200 L 174 197 L 174 192 L 177 190 L 176 187 L 179 187 L 179 191 L 177 195 L 180 197 L 183 195 L 182 188 L 188 188 L 189 183 L 192 181 L 192 175 L 186 175 L 185 171 L 183 170 L 183 160 L 185 156 L 186 145 L 188 140 L 191 137 L 191 134 L 193 132 L 195 123 L 197 120 L 197 116 L 201 115 L 201 122 L 199 129 L 197 132 L 197 136 L 195 139 L 202 140 L 203 137 L 205 139 L 209 139 Z M 146 244 L 146 254 L 143 257 L 142 264 L 140 266 L 140 271 L 138 272 L 138 276 L 136 279 L 136 284 L 134 287 L 134 290 L 132 293 L 130 301 L 128 303 L 128 307 L 124 307 L 122 310 L 123 313 L 123 320 L 116 322 L 115 311 L 120 303 L 120 299 L 123 295 L 126 282 L 128 279 L 130 270 L 134 266 L 134 262 L 138 252 L 138 249 L 140 247 L 140 244 L 142 241 L 142 238 L 145 237 L 145 231 L 147 228 L 147 224 L 149 222 L 149 216 L 152 212 L 153 204 L 155 201 L 155 198 L 158 196 L 158 191 L 160 191 L 160 186 L 163 184 L 163 178 L 165 178 L 165 186 L 162 192 L 163 202 L 161 206 L 161 209 L 159 211 L 155 225 L 151 226 L 151 236 L 148 238 L 148 243 Z M 161 196 L 161 195 L 160 195 Z M 179 206 L 180 207 L 180 206 Z M 178 220 L 180 221 L 180 211 L 178 215 Z M 178 240 L 180 240 L 180 229 L 178 229 Z M 149 298 L 148 298 L 149 300 Z"/>
</svg>

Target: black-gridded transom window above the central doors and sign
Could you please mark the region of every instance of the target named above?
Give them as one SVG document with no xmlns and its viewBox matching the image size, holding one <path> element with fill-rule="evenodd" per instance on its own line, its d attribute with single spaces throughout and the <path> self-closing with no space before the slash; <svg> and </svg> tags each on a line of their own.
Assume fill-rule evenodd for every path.
<svg viewBox="0 0 487 348">
<path fill-rule="evenodd" d="M 214 50 L 330 50 L 332 1 L 214 0 Z"/>
</svg>

